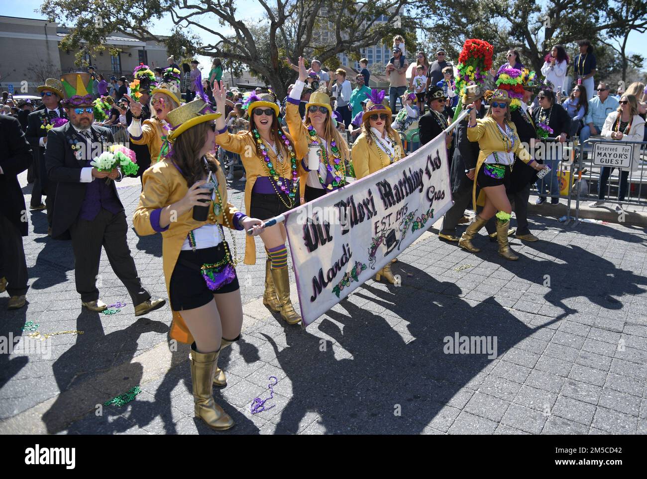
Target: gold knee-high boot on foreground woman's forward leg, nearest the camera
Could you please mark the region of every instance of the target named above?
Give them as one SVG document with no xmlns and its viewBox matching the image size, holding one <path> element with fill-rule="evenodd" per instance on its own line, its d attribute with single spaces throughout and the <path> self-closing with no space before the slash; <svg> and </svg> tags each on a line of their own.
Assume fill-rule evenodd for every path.
<svg viewBox="0 0 647 479">
<path fill-rule="evenodd" d="M 234 420 L 214 401 L 214 372 L 220 351 L 201 353 L 191 346 L 191 379 L 195 417 L 217 431 L 229 429 Z"/>
</svg>

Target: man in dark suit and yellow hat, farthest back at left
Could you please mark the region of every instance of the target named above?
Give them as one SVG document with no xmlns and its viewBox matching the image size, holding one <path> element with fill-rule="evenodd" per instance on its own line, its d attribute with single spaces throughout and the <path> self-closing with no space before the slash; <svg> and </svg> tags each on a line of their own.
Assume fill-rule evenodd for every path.
<svg viewBox="0 0 647 479">
<path fill-rule="evenodd" d="M 67 118 L 67 114 L 60 105 L 63 98 L 63 85 L 56 78 L 48 78 L 45 85 L 40 85 L 38 91 L 43 98 L 43 106 L 27 116 L 27 141 L 34 150 L 34 175 L 36 181 L 32 189 L 30 209 L 47 208 L 47 233 L 51 234 L 52 212 L 54 210 L 54 197 L 56 197 L 56 183 L 50 181 L 45 167 L 45 148 L 47 147 L 47 126 L 52 125 L 56 118 Z M 43 204 L 42 195 L 47 195 Z"/>
</svg>

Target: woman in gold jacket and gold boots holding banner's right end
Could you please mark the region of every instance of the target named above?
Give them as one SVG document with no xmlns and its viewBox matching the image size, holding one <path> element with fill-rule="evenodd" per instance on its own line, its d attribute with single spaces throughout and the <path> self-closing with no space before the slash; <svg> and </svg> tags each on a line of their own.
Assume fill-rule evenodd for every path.
<svg viewBox="0 0 647 479">
<path fill-rule="evenodd" d="M 476 160 L 474 186 L 472 187 L 472 202 L 476 208 L 476 185 L 481 188 L 485 197 L 485 206 L 476 219 L 467 227 L 459 240 L 459 246 L 472 253 L 478 253 L 472 239 L 479 229 L 485 226 L 495 214 L 496 235 L 499 242 L 499 255 L 512 261 L 519 259 L 508 244 L 508 228 L 512 207 L 505 193 L 510 186 L 510 171 L 514 165 L 514 155 L 537 171 L 544 169 L 538 164 L 521 145 L 514 123 L 510 120 L 510 98 L 505 90 L 494 90 L 490 98 L 490 108 L 483 120 L 476 119 L 474 103 L 471 108 L 470 120 L 467 124 L 467 139 L 479 142 L 479 157 Z M 480 198 L 480 197 L 479 197 Z"/>
</svg>

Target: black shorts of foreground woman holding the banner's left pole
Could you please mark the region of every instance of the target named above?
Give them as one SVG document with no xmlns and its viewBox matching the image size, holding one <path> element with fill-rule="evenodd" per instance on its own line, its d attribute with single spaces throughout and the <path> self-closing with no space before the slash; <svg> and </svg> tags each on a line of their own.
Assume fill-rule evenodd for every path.
<svg viewBox="0 0 647 479">
<path fill-rule="evenodd" d="M 199 308 L 214 299 L 214 294 L 230 293 L 240 288 L 237 276 L 234 281 L 216 291 L 206 286 L 200 267 L 204 263 L 218 262 L 224 257 L 223 243 L 202 250 L 180 251 L 171 275 L 170 299 L 173 311 Z"/>
</svg>

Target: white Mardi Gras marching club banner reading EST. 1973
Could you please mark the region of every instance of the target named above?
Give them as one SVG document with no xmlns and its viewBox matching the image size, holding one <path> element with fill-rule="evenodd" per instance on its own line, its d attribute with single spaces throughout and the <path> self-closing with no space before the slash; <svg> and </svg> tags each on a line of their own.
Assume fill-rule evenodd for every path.
<svg viewBox="0 0 647 479">
<path fill-rule="evenodd" d="M 286 213 L 307 326 L 402 253 L 452 206 L 444 135 Z"/>
</svg>

